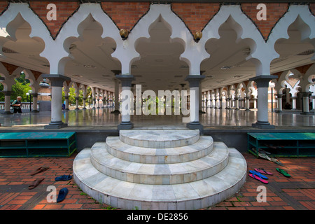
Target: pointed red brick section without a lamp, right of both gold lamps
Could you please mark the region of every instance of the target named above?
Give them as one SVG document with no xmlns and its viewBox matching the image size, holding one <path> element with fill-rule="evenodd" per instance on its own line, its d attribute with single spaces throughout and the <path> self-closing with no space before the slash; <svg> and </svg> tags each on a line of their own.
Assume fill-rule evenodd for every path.
<svg viewBox="0 0 315 224">
<path fill-rule="evenodd" d="M 256 18 L 259 12 L 259 10 L 256 9 L 257 5 L 258 3 L 242 3 L 241 9 L 255 22 L 262 36 L 267 39 L 276 22 L 278 22 L 283 14 L 286 13 L 286 10 L 288 10 L 288 3 L 265 3 L 267 7 L 267 20 L 260 21 Z"/>
</svg>

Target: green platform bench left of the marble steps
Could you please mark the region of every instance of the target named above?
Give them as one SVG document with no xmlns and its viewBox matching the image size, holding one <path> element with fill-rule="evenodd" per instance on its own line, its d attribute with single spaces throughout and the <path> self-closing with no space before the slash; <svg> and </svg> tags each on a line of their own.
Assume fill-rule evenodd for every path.
<svg viewBox="0 0 315 224">
<path fill-rule="evenodd" d="M 0 158 L 69 157 L 76 149 L 76 132 L 0 133 Z"/>
</svg>

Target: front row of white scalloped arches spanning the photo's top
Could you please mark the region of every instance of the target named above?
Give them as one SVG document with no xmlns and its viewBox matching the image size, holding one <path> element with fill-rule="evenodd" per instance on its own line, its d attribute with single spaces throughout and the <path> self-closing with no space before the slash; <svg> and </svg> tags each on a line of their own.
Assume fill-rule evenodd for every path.
<svg viewBox="0 0 315 224">
<path fill-rule="evenodd" d="M 214 18 L 204 27 L 202 38 L 196 43 L 184 22 L 172 12 L 169 5 L 151 5 L 148 13 L 135 25 L 128 38 L 123 40 L 114 22 L 104 13 L 98 3 L 82 3 L 76 13 L 66 21 L 54 40 L 43 21 L 34 14 L 27 3 L 10 3 L 7 10 L 0 17 L 0 27 L 4 28 L 0 32 L 0 46 L 6 41 L 16 40 L 15 31 L 21 21 L 14 19 L 18 15 L 21 15 L 31 26 L 29 36 L 45 43 L 45 48 L 40 55 L 48 59 L 50 73 L 64 73 L 64 65 L 71 58 L 69 52 L 71 43 L 83 38 L 83 30 L 90 24 L 91 20 L 96 20 L 102 25 L 102 38 L 109 37 L 116 41 L 117 48 L 112 57 L 120 61 L 122 74 L 130 74 L 132 62 L 139 59 L 140 56 L 135 49 L 137 40 L 139 38 L 150 38 L 148 30 L 153 22 L 160 17 L 167 21 L 169 29 L 172 30 L 172 41 L 179 41 L 184 45 L 185 51 L 181 54 L 180 59 L 188 64 L 190 75 L 200 75 L 201 62 L 211 57 L 205 50 L 204 45 L 211 38 L 220 38 L 218 29 L 226 21 L 233 24 L 237 32 L 237 41 L 248 39 L 251 54 L 246 59 L 253 61 L 255 64 L 257 76 L 270 74 L 270 63 L 273 59 L 279 57 L 276 50 L 274 50 L 274 44 L 279 38 L 288 38 L 288 26 L 295 20 L 299 20 L 301 24 L 299 29 L 302 34 L 302 41 L 309 39 L 311 44 L 315 45 L 315 18 L 307 5 L 291 5 L 288 12 L 272 29 L 267 41 L 262 38 L 253 22 L 242 13 L 240 6 L 223 5 Z M 13 20 L 14 22 L 12 22 Z M 0 54 L 1 50 L 2 48 L 0 48 Z M 313 56 L 314 58 L 315 56 Z"/>
</svg>

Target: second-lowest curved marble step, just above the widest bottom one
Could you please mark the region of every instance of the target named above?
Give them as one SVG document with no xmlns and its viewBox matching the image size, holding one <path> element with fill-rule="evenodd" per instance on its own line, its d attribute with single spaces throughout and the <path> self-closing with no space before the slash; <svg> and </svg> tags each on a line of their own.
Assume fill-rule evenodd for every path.
<svg viewBox="0 0 315 224">
<path fill-rule="evenodd" d="M 228 164 L 228 148 L 222 142 L 203 158 L 172 164 L 147 164 L 116 158 L 106 151 L 105 142 L 97 142 L 91 149 L 92 165 L 99 172 L 132 183 L 178 184 L 198 181 L 220 172 Z"/>
</svg>

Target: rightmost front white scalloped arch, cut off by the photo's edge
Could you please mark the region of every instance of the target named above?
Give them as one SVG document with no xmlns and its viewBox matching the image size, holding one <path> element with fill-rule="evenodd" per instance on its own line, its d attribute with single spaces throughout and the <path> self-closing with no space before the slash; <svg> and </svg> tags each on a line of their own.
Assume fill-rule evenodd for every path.
<svg viewBox="0 0 315 224">
<path fill-rule="evenodd" d="M 290 5 L 288 11 L 272 29 L 267 40 L 269 49 L 274 51 L 270 62 L 279 57 L 279 54 L 274 50 L 276 41 L 280 38 L 289 38 L 288 27 L 295 22 L 295 20 L 299 23 L 301 41 L 309 39 L 310 43 L 314 45 L 315 48 L 315 16 L 311 14 L 309 6 L 307 5 Z M 313 55 L 311 59 L 315 60 L 315 55 Z"/>
</svg>

